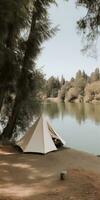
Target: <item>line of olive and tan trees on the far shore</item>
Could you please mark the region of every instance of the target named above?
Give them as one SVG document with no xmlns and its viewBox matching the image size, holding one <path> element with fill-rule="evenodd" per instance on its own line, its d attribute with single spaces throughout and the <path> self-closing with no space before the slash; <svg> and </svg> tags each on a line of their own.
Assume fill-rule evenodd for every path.
<svg viewBox="0 0 100 200">
<path fill-rule="evenodd" d="M 85 71 L 79 70 L 75 78 L 70 81 L 51 76 L 46 81 L 45 86 L 46 98 L 58 97 L 63 101 L 77 102 L 98 102 L 100 101 L 100 71 L 96 68 L 88 76 Z"/>
</svg>

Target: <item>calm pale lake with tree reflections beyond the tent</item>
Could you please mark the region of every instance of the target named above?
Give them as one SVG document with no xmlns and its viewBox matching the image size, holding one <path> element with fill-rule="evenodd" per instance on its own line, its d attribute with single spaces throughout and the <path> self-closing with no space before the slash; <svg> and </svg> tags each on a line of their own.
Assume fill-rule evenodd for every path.
<svg viewBox="0 0 100 200">
<path fill-rule="evenodd" d="M 45 102 L 43 112 L 66 146 L 100 155 L 100 105 Z"/>
</svg>

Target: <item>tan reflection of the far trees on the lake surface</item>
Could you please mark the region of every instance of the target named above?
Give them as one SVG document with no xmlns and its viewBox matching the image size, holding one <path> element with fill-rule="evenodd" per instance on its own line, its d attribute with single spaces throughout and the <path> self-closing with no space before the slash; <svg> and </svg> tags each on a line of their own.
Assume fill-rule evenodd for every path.
<svg viewBox="0 0 100 200">
<path fill-rule="evenodd" d="M 69 115 L 77 120 L 79 124 L 90 119 L 96 124 L 100 124 L 100 105 L 84 103 L 63 103 L 63 102 L 45 102 L 44 112 L 51 118 L 61 117 L 62 119 Z"/>
</svg>

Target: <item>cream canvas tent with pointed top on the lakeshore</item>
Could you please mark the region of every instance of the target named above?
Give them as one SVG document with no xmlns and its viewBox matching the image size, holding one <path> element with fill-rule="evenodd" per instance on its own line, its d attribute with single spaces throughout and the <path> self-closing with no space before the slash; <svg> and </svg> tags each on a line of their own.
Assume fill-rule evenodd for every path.
<svg viewBox="0 0 100 200">
<path fill-rule="evenodd" d="M 65 142 L 53 130 L 45 116 L 40 116 L 25 136 L 17 142 L 23 152 L 48 153 L 55 151 Z"/>
</svg>

